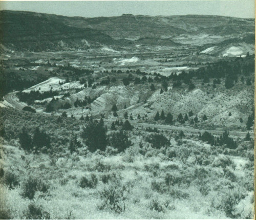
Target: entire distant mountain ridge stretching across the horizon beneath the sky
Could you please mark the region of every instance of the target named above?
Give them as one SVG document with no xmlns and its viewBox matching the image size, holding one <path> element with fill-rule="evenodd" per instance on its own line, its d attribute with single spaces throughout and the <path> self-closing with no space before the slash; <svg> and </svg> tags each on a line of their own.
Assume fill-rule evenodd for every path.
<svg viewBox="0 0 256 220">
<path fill-rule="evenodd" d="M 84 49 L 89 45 L 177 46 L 180 41 L 174 42 L 173 37 L 181 36 L 184 40 L 187 36 L 202 34 L 223 40 L 246 37 L 254 34 L 254 19 L 131 14 L 84 18 L 24 11 L 0 12 L 1 44 L 14 50 Z"/>
</svg>

